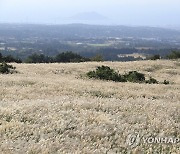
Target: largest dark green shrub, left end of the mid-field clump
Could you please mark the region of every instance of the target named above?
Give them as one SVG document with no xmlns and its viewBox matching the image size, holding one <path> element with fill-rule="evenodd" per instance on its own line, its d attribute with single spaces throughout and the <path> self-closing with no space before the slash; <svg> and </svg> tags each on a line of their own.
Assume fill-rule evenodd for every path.
<svg viewBox="0 0 180 154">
<path fill-rule="evenodd" d="M 125 82 L 126 80 L 114 71 L 114 69 L 111 69 L 108 66 L 99 66 L 96 68 L 95 71 L 90 71 L 87 73 L 87 76 L 89 78 L 95 78 L 100 80 L 112 80 L 116 82 Z"/>
</svg>

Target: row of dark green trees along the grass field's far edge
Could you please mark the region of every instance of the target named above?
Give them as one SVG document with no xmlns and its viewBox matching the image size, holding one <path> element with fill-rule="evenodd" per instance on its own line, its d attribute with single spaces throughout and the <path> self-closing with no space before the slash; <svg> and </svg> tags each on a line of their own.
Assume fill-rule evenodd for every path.
<svg viewBox="0 0 180 154">
<path fill-rule="evenodd" d="M 170 54 L 166 56 L 165 59 L 178 59 L 180 58 L 180 51 L 172 51 Z M 156 59 L 162 59 L 160 55 L 153 55 L 152 57 L 149 57 L 148 59 L 156 60 Z M 77 53 L 74 53 L 72 51 L 62 52 L 57 54 L 56 56 L 46 56 L 44 54 L 37 54 L 34 53 L 30 56 L 28 56 L 25 60 L 21 60 L 19 58 L 14 58 L 11 55 L 3 56 L 0 53 L 0 63 L 6 62 L 6 63 L 78 63 L 78 62 L 87 62 L 87 61 L 106 61 L 106 58 L 102 56 L 102 54 L 96 54 L 91 58 L 87 58 L 85 56 L 79 55 Z"/>
</svg>

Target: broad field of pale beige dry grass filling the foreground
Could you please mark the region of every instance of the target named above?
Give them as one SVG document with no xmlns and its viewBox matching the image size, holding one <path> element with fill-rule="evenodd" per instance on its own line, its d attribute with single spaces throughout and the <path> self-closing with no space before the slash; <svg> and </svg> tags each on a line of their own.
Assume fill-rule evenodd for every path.
<svg viewBox="0 0 180 154">
<path fill-rule="evenodd" d="M 180 138 L 180 61 L 12 65 L 0 75 L 0 154 L 180 153 L 179 143 L 126 143 L 135 132 Z M 170 84 L 85 76 L 101 65 Z"/>
</svg>

